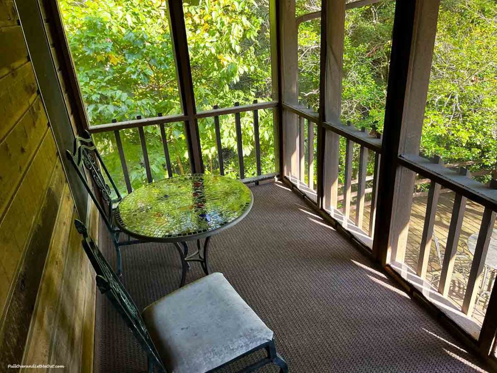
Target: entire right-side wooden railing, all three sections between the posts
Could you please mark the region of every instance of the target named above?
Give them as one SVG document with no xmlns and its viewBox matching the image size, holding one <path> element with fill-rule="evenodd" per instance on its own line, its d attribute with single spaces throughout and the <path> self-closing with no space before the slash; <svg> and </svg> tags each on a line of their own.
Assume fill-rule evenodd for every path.
<svg viewBox="0 0 497 373">
<path fill-rule="evenodd" d="M 285 179 L 293 187 L 298 188 L 302 194 L 308 200 L 316 204 L 316 207 L 318 208 L 319 196 L 314 188 L 314 181 L 311 179 L 311 177 L 314 176 L 310 171 L 309 166 L 311 161 L 314 162 L 315 149 L 310 146 L 310 144 L 312 144 L 311 139 L 313 139 L 315 134 L 315 124 L 317 125 L 317 123 L 319 123 L 319 115 L 301 105 L 284 103 L 282 106 L 284 110 L 288 110 L 288 112 L 295 114 L 299 128 L 299 131 L 297 132 L 299 144 L 298 172 L 292 173 L 292 175 L 287 176 Z M 305 121 L 308 123 L 307 133 L 305 131 Z M 376 131 L 368 133 L 364 128 L 354 128 L 350 122 L 347 122 L 346 125 L 341 123 L 323 122 L 323 127 L 326 132 L 332 132 L 345 139 L 345 157 L 343 162 L 339 164 L 339 167 L 343 168 L 343 184 L 338 185 L 338 189 L 341 189 L 341 193 L 339 193 L 340 195 L 338 195 L 335 205 L 331 206 L 331 208 L 324 209 L 337 224 L 342 225 L 344 229 L 349 231 L 352 235 L 359 232 L 358 236 L 360 236 L 360 232 L 362 231 L 363 238 L 359 240 L 362 243 L 366 243 L 369 248 L 372 248 L 375 223 L 377 222 L 376 212 L 382 138 Z M 307 152 L 305 151 L 306 142 L 308 144 Z M 355 167 L 352 165 L 354 144 L 356 144 L 355 146 L 359 146 L 358 166 L 356 165 Z M 368 158 L 368 150 L 373 152 L 374 159 Z M 326 161 L 327 160 L 324 160 L 325 165 Z M 305 168 L 306 162 L 307 168 Z M 374 162 L 373 175 L 367 174 L 369 162 Z M 471 261 L 471 269 L 469 270 L 468 282 L 465 288 L 464 300 L 462 301 L 462 304 L 452 303 L 451 306 L 454 310 L 459 309 L 462 314 L 471 316 L 475 309 L 475 301 L 480 289 L 487 285 L 482 283 L 482 274 L 484 272 L 485 260 L 497 210 L 497 181 L 492 180 L 490 185 L 484 185 L 472 179 L 472 176 L 495 175 L 496 172 L 495 170 L 481 170 L 475 172 L 474 175 L 470 175 L 467 168 L 459 166 L 469 166 L 472 163 L 462 162 L 444 165 L 440 157 L 434 157 L 434 159 L 430 160 L 421 156 L 403 155 L 399 157 L 399 163 L 402 167 L 407 168 L 418 175 L 418 178 L 414 180 L 414 186 L 428 184 L 427 192 L 420 194 L 412 189 L 413 192 L 410 195 L 405 195 L 406 203 L 409 198 L 418 197 L 420 195 L 426 196 L 427 199 L 419 256 L 417 266 L 414 268 L 415 275 L 420 280 L 427 280 L 428 260 L 430 257 L 430 250 L 432 250 L 432 237 L 438 197 L 442 192 L 455 193 L 452 216 L 448 228 L 446 249 L 443 256 L 442 267 L 440 269 L 440 280 L 436 288 L 432 288 L 431 290 L 447 299 L 449 303 L 451 302 L 449 299 L 449 286 L 454 274 L 455 258 L 458 253 L 466 201 L 471 200 L 484 206 L 478 241 Z M 459 167 L 458 171 L 453 170 L 456 167 Z M 355 180 L 352 180 L 353 168 L 358 169 L 357 178 Z M 366 183 L 370 183 L 368 188 L 366 188 Z M 355 191 L 352 191 L 353 186 L 355 186 Z M 365 218 L 364 207 L 368 203 L 370 204 L 369 227 L 363 227 Z M 355 216 L 354 220 L 351 221 L 351 212 L 353 210 L 355 210 Z M 352 228 L 352 226 L 354 226 L 354 228 Z M 364 240 L 365 235 L 369 236 L 371 240 Z M 405 267 L 405 250 L 405 247 L 399 246 L 396 248 L 396 251 L 392 253 L 390 261 L 393 268 Z M 424 286 L 430 288 L 431 284 L 430 282 L 425 282 Z M 489 307 L 493 306 L 494 305 L 491 302 Z M 486 322 L 489 323 L 490 321 Z M 477 328 L 479 327 L 475 326 L 474 329 L 476 330 Z"/>
</svg>

